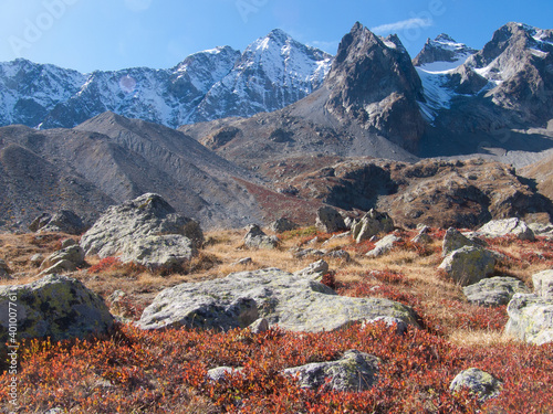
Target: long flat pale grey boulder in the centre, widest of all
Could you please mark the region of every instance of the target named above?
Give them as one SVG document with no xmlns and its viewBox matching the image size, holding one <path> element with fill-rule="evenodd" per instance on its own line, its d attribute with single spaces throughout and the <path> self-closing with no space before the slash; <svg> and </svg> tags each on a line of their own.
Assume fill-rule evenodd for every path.
<svg viewBox="0 0 553 414">
<path fill-rule="evenodd" d="M 338 296 L 319 282 L 269 268 L 165 289 L 144 310 L 138 326 L 228 330 L 265 318 L 286 330 L 319 332 L 380 316 L 417 326 L 413 309 L 401 304 Z"/>
</svg>

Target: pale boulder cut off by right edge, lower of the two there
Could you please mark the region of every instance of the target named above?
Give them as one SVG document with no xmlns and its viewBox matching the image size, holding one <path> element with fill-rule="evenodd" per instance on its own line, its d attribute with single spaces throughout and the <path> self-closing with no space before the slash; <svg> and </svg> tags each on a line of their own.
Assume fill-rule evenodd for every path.
<svg viewBox="0 0 553 414">
<path fill-rule="evenodd" d="M 535 344 L 553 342 L 553 299 L 515 294 L 507 314 L 507 336 Z"/>
</svg>

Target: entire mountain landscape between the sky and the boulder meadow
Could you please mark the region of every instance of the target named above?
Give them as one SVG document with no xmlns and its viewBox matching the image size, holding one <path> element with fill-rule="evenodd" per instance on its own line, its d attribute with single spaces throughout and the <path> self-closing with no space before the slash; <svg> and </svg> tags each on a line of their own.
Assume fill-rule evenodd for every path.
<svg viewBox="0 0 553 414">
<path fill-rule="evenodd" d="M 356 23 L 337 54 L 281 30 L 169 70 L 0 64 L 0 226 L 88 224 L 146 192 L 206 227 L 300 224 L 330 204 L 405 225 L 553 214 L 553 30 L 447 34 L 411 59 Z"/>
</svg>

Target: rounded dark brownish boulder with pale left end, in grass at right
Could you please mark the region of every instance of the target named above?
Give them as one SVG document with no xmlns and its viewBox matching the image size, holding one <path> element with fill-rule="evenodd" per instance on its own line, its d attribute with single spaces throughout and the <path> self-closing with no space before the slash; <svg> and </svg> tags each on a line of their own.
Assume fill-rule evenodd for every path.
<svg viewBox="0 0 553 414">
<path fill-rule="evenodd" d="M 439 266 L 453 282 L 468 286 L 491 276 L 495 256 L 484 248 L 465 246 L 451 252 Z"/>
</svg>

